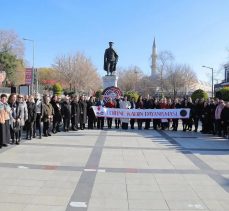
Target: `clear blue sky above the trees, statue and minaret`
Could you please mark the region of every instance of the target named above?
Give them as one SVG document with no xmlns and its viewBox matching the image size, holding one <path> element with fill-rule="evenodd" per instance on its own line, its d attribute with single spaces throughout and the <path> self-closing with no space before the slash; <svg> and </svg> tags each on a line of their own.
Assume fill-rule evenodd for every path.
<svg viewBox="0 0 229 211">
<path fill-rule="evenodd" d="M 202 65 L 220 70 L 229 61 L 228 0 L 0 0 L 0 6 L 0 29 L 35 41 L 37 67 L 80 51 L 104 75 L 104 50 L 114 41 L 118 66 L 150 74 L 154 37 L 158 51 L 171 51 L 201 80 L 211 76 Z M 31 43 L 25 47 L 32 61 Z"/>
</svg>

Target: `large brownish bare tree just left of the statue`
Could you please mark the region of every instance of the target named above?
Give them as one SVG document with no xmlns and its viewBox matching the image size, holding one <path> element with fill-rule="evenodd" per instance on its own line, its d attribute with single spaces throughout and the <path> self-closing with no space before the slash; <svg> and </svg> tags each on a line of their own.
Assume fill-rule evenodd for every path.
<svg viewBox="0 0 229 211">
<path fill-rule="evenodd" d="M 57 57 L 53 68 L 59 72 L 60 79 L 69 84 L 70 89 L 92 93 L 101 87 L 96 68 L 82 53 Z"/>
</svg>

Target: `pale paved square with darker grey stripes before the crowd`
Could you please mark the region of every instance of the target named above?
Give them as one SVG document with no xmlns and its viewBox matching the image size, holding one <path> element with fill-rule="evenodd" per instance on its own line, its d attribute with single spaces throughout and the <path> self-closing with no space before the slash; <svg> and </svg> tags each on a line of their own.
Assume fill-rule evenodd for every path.
<svg viewBox="0 0 229 211">
<path fill-rule="evenodd" d="M 229 210 L 229 140 L 85 130 L 0 150 L 2 211 Z"/>
</svg>

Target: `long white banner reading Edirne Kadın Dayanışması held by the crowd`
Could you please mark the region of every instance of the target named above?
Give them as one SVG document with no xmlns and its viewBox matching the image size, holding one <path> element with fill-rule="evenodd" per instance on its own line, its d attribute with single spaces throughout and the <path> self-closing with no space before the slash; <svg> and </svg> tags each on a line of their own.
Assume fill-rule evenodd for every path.
<svg viewBox="0 0 229 211">
<path fill-rule="evenodd" d="M 97 117 L 122 119 L 187 119 L 190 109 L 121 109 L 92 106 Z"/>
</svg>

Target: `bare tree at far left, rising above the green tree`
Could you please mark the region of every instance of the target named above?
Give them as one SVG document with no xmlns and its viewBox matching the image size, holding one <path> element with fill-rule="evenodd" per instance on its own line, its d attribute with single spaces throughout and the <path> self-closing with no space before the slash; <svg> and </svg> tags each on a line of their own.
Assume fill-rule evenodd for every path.
<svg viewBox="0 0 229 211">
<path fill-rule="evenodd" d="M 23 59 L 24 44 L 14 31 L 0 30 L 0 52 L 8 52 Z"/>
</svg>

